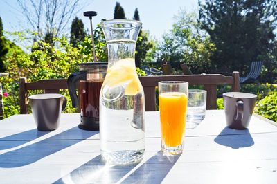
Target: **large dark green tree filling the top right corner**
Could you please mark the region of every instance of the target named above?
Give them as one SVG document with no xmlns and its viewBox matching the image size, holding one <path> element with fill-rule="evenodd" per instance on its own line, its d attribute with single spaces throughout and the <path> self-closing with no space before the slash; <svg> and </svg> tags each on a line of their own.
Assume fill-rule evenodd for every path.
<svg viewBox="0 0 277 184">
<path fill-rule="evenodd" d="M 240 71 L 245 75 L 251 62 L 265 59 L 275 38 L 276 1 L 202 2 L 199 1 L 199 21 L 216 46 L 211 59 L 217 71 Z"/>
</svg>

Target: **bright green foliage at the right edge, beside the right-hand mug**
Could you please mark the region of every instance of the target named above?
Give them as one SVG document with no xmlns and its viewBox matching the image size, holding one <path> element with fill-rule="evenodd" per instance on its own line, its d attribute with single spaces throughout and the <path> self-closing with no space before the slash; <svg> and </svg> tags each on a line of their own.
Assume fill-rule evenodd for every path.
<svg viewBox="0 0 277 184">
<path fill-rule="evenodd" d="M 258 104 L 256 104 L 255 113 L 277 122 L 277 92 L 271 93 Z"/>
</svg>

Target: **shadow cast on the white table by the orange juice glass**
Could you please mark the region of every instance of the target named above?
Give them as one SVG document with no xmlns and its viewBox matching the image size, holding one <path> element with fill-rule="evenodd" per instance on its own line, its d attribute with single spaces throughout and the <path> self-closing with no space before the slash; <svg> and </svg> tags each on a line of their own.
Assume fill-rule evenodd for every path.
<svg viewBox="0 0 277 184">
<path fill-rule="evenodd" d="M 161 183 L 180 156 L 181 154 L 165 155 L 161 150 L 125 178 L 122 183 Z"/>
</svg>

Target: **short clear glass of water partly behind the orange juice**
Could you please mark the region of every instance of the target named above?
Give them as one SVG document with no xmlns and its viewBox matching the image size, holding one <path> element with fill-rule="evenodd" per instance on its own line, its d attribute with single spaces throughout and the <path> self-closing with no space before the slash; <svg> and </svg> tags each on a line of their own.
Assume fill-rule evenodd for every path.
<svg viewBox="0 0 277 184">
<path fill-rule="evenodd" d="M 207 91 L 201 89 L 188 90 L 188 109 L 186 113 L 186 129 L 197 127 L 206 115 Z"/>
</svg>

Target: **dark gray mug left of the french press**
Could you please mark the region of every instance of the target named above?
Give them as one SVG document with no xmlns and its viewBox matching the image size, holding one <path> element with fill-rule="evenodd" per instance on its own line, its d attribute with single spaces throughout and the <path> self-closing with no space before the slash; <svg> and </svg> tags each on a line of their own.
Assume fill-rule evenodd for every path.
<svg viewBox="0 0 277 184">
<path fill-rule="evenodd" d="M 66 107 L 66 97 L 48 93 L 29 97 L 35 124 L 39 131 L 51 131 L 60 125 L 60 116 Z"/>
</svg>

